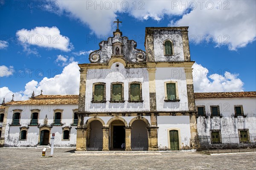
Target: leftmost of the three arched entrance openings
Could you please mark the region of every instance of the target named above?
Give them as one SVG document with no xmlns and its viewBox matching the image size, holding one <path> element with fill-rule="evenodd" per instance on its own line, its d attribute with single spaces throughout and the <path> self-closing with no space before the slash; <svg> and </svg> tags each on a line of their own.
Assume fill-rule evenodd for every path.
<svg viewBox="0 0 256 170">
<path fill-rule="evenodd" d="M 87 125 L 87 127 L 87 150 L 102 150 L 102 122 L 100 122 L 99 120 L 93 120 Z"/>
</svg>

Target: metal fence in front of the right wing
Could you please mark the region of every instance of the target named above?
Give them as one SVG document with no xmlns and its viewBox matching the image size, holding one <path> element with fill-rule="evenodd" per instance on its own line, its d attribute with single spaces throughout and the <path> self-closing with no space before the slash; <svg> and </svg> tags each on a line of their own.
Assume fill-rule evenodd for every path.
<svg viewBox="0 0 256 170">
<path fill-rule="evenodd" d="M 211 136 L 197 136 L 197 151 L 207 154 L 256 152 L 256 133 L 249 133 L 246 140 L 239 134 L 228 134 L 215 141 Z"/>
</svg>

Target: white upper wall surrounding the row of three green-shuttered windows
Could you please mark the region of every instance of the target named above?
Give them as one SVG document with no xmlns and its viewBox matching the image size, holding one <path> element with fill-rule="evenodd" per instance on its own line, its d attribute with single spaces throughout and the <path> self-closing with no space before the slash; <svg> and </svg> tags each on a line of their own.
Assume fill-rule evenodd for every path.
<svg viewBox="0 0 256 170">
<path fill-rule="evenodd" d="M 116 67 L 119 64 L 119 67 Z M 143 102 L 130 103 L 129 82 L 142 83 Z M 93 83 L 106 83 L 106 103 L 91 103 L 93 95 Z M 111 103 L 111 82 L 124 83 L 124 103 Z M 86 94 L 85 94 L 86 111 L 88 112 L 136 112 L 149 111 L 149 84 L 148 71 L 146 68 L 124 68 L 120 62 L 115 62 L 111 69 L 90 69 L 87 71 Z"/>
</svg>

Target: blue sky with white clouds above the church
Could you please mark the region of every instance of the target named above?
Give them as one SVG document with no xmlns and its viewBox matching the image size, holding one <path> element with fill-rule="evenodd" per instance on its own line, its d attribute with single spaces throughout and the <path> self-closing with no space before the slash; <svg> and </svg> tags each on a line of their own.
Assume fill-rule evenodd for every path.
<svg viewBox="0 0 256 170">
<path fill-rule="evenodd" d="M 123 35 L 143 50 L 145 27 L 189 26 L 195 91 L 256 91 L 255 1 L 94 2 L 1 1 L 1 101 L 41 89 L 78 94 L 77 63 L 89 62 L 90 51 L 113 35 L 117 18 Z"/>
</svg>

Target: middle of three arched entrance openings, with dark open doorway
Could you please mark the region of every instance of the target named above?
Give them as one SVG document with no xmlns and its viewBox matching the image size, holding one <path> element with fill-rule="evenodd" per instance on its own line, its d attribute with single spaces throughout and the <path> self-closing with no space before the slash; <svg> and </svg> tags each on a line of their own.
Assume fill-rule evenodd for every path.
<svg viewBox="0 0 256 170">
<path fill-rule="evenodd" d="M 111 122 L 111 149 L 125 149 L 125 123 L 122 120 L 114 120 Z"/>
</svg>

